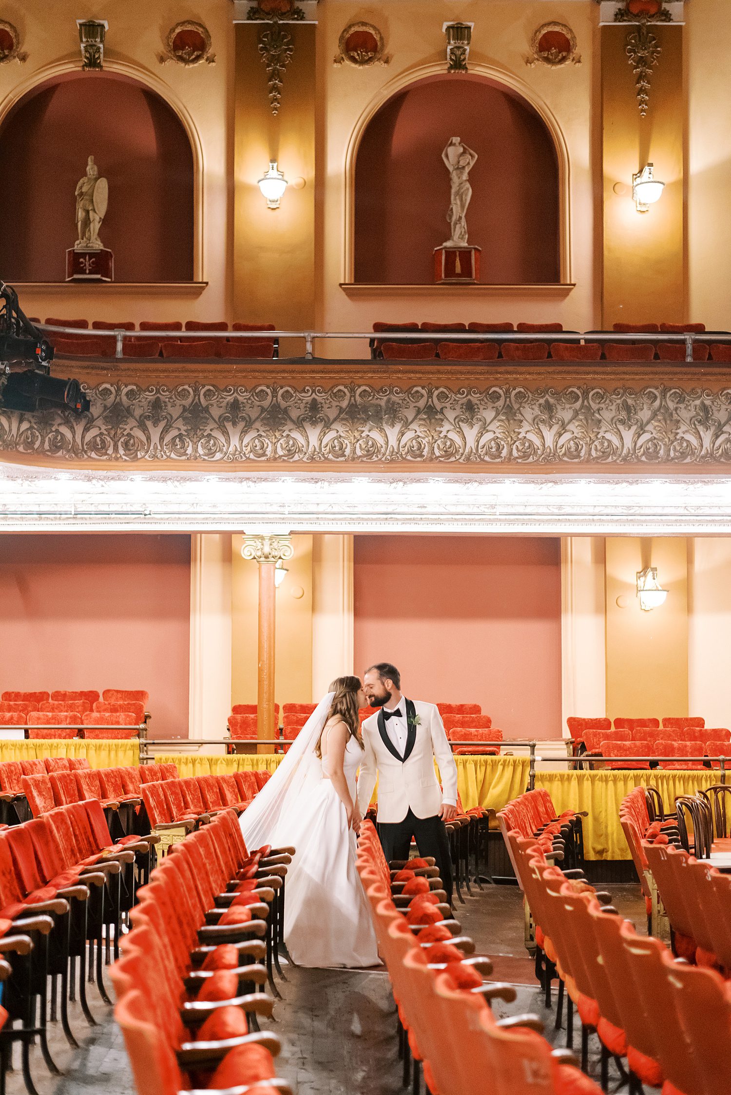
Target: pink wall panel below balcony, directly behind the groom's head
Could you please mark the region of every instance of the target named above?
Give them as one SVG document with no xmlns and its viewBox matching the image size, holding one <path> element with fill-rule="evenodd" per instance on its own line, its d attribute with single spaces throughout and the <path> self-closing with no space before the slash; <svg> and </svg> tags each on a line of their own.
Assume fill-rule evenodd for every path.
<svg viewBox="0 0 731 1095">
<path fill-rule="evenodd" d="M 556 539 L 356 537 L 356 671 L 392 661 L 409 696 L 559 737 L 560 596 Z"/>
</svg>

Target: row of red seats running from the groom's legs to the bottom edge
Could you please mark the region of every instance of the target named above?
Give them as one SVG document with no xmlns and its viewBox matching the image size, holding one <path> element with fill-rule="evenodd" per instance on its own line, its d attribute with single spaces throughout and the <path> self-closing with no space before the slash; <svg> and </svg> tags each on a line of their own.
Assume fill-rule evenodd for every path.
<svg viewBox="0 0 731 1095">
<path fill-rule="evenodd" d="M 363 823 L 358 872 L 398 1007 L 404 1086 L 413 1058 L 415 1091 L 422 1071 L 439 1095 L 599 1095 L 564 1051 L 552 1051 L 537 1016 L 496 1019 L 490 1001 L 512 1002 L 515 990 L 483 982 L 490 963 L 465 957 L 474 943 L 445 919 L 449 909 L 422 876 L 423 863 L 410 860 L 390 872 L 373 826 Z"/>
</svg>

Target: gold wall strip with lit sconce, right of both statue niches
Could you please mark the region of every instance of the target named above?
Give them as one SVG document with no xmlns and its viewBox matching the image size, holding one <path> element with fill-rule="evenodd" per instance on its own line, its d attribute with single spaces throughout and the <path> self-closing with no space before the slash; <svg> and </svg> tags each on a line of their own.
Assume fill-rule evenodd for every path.
<svg viewBox="0 0 731 1095">
<path fill-rule="evenodd" d="M 653 26 L 662 47 L 652 69 L 650 105 L 640 116 L 635 76 L 626 55 L 627 26 L 602 27 L 604 173 L 604 327 L 686 319 L 684 251 L 683 31 Z M 662 198 L 638 214 L 633 173 L 654 164 Z M 617 195 L 615 184 L 626 194 Z"/>
</svg>

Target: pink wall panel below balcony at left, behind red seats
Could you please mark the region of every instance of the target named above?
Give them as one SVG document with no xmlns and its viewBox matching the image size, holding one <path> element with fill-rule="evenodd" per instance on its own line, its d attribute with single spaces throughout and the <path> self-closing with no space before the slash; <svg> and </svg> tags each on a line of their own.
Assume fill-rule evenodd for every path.
<svg viewBox="0 0 731 1095">
<path fill-rule="evenodd" d="M 190 538 L 0 538 L 0 690 L 141 688 L 188 733 Z"/>
</svg>

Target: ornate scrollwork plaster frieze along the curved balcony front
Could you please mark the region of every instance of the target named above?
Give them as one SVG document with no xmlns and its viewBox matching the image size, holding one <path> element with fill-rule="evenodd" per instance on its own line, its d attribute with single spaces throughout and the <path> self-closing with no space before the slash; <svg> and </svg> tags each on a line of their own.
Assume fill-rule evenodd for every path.
<svg viewBox="0 0 731 1095">
<path fill-rule="evenodd" d="M 91 411 L 0 410 L 0 452 L 100 466 L 731 468 L 731 388 L 101 383 Z"/>
</svg>

